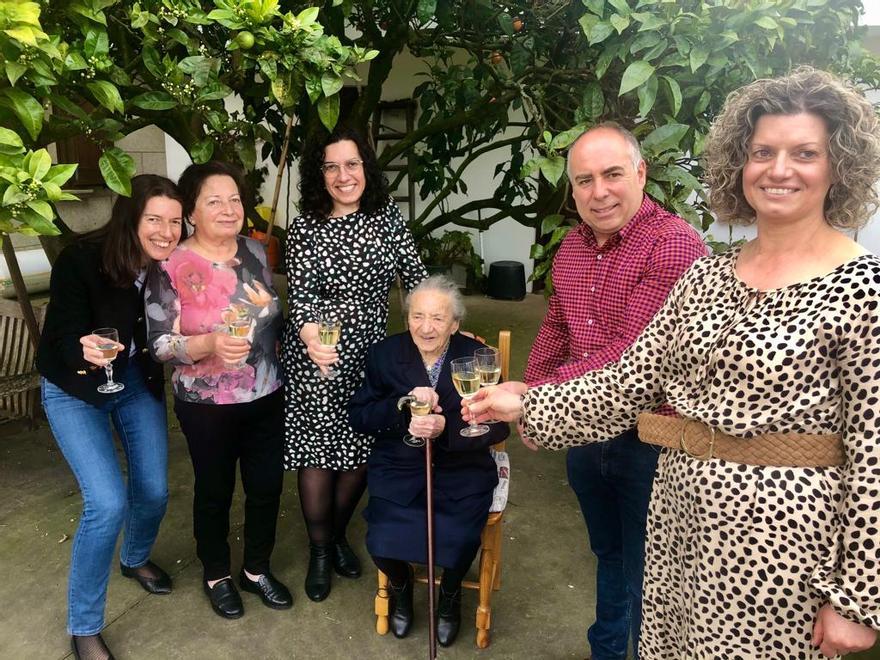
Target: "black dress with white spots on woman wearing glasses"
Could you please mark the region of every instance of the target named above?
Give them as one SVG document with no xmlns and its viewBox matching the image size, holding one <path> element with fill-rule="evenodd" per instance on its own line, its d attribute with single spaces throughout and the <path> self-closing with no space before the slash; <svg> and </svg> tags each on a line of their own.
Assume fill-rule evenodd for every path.
<svg viewBox="0 0 880 660">
<path fill-rule="evenodd" d="M 364 380 L 367 349 L 386 334 L 394 277 L 412 289 L 427 273 L 400 210 L 339 218 L 303 215 L 287 238 L 290 315 L 282 364 L 287 378 L 284 466 L 352 470 L 367 462 L 370 436 L 355 433 L 346 407 Z M 318 375 L 299 331 L 320 312 L 342 322 L 335 378 Z"/>
</svg>

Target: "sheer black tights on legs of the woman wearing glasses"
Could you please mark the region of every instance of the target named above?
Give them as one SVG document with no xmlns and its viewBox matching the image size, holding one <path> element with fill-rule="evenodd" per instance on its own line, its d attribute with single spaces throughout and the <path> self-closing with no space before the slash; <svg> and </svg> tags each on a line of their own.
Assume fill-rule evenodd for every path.
<svg viewBox="0 0 880 660">
<path fill-rule="evenodd" d="M 347 472 L 300 468 L 297 483 L 309 540 L 315 545 L 345 540 L 345 529 L 367 487 L 367 466 Z"/>
</svg>

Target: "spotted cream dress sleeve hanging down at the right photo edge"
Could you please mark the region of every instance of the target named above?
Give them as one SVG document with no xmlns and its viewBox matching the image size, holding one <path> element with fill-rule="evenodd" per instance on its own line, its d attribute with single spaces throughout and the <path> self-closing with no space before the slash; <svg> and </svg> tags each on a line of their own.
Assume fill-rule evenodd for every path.
<svg viewBox="0 0 880 660">
<path fill-rule="evenodd" d="M 850 296 L 852 316 L 838 352 L 842 437 L 837 543 L 825 548 L 811 585 L 852 621 L 880 630 L 880 272 Z M 834 470 L 836 468 L 828 468 Z"/>
</svg>

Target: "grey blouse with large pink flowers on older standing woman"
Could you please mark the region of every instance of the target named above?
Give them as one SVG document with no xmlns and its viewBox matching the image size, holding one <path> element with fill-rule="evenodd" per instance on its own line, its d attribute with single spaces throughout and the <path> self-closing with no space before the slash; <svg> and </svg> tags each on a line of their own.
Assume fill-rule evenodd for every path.
<svg viewBox="0 0 880 660">
<path fill-rule="evenodd" d="M 174 365 L 172 389 L 181 401 L 244 403 L 282 385 L 278 359 L 281 305 L 272 288 L 266 251 L 259 241 L 238 237 L 238 250 L 217 263 L 180 245 L 151 269 L 144 294 L 150 351 Z M 187 355 L 191 335 L 247 326 L 251 352 L 241 365 L 211 355 L 196 363 Z"/>
</svg>

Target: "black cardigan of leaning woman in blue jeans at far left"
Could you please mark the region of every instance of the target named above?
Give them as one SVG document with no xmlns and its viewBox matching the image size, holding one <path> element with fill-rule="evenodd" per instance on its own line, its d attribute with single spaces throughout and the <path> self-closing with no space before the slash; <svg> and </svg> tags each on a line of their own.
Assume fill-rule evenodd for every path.
<svg viewBox="0 0 880 660">
<path fill-rule="evenodd" d="M 132 283 L 112 286 L 101 270 L 101 246 L 77 241 L 67 246 L 52 267 L 49 306 L 37 349 L 37 370 L 68 394 L 93 405 L 108 396 L 97 391 L 106 382 L 104 370 L 86 362 L 79 338 L 97 328 L 116 328 L 126 346 L 113 361 L 113 379 L 125 383 L 129 348 L 134 340 L 136 359 L 147 388 L 157 399 L 163 395 L 162 365 L 150 358 L 141 291 Z"/>
</svg>

